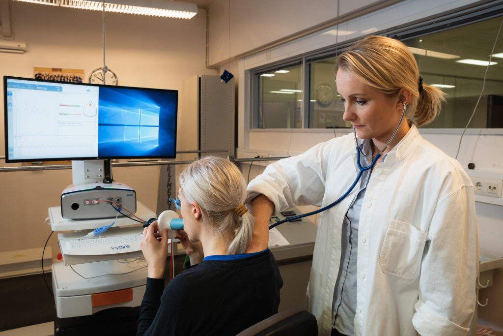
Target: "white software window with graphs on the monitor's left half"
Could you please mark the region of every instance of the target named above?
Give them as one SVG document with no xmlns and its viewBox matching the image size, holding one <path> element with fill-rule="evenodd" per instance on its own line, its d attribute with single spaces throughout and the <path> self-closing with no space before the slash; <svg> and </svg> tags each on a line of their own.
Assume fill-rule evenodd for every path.
<svg viewBox="0 0 503 336">
<path fill-rule="evenodd" d="M 18 158 L 97 155 L 98 117 L 83 113 L 85 103 L 96 98 L 60 90 L 17 90 L 13 96 Z"/>
</svg>

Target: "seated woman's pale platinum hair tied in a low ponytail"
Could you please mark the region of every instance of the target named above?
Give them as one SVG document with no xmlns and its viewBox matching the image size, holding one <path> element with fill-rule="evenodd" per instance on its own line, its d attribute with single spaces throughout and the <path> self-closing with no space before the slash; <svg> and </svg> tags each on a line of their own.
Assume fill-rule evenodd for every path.
<svg viewBox="0 0 503 336">
<path fill-rule="evenodd" d="M 187 201 L 195 201 L 212 228 L 226 240 L 229 254 L 244 253 L 251 242 L 254 218 L 235 212 L 246 197 L 246 183 L 230 161 L 207 156 L 182 171 L 180 189 Z M 241 221 L 240 221 L 241 220 Z"/>
</svg>

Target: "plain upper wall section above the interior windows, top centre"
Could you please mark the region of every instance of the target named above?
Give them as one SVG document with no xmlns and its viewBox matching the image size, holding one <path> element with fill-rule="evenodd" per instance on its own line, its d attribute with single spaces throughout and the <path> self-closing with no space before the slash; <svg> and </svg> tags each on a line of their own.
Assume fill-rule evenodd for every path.
<svg viewBox="0 0 503 336">
<path fill-rule="evenodd" d="M 210 64 L 225 63 L 229 56 L 247 53 L 334 20 L 338 14 L 345 16 L 400 1 L 216 0 L 210 6 Z"/>
</svg>

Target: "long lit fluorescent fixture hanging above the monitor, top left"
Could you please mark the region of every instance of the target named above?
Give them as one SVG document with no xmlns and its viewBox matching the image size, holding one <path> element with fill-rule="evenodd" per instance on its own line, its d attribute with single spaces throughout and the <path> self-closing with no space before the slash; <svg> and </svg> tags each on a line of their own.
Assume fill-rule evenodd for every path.
<svg viewBox="0 0 503 336">
<path fill-rule="evenodd" d="M 102 1 L 93 0 L 18 0 L 28 3 L 103 11 Z M 191 19 L 197 14 L 197 5 L 162 0 L 105 0 L 105 12 Z"/>
</svg>

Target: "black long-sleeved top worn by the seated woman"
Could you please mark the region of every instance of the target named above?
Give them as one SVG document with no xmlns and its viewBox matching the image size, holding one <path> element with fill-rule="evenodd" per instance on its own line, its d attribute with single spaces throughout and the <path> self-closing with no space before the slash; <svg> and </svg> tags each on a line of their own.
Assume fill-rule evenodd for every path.
<svg viewBox="0 0 503 336">
<path fill-rule="evenodd" d="M 137 335 L 235 335 L 278 312 L 283 286 L 271 251 L 204 260 L 176 276 L 147 278 Z"/>
</svg>

